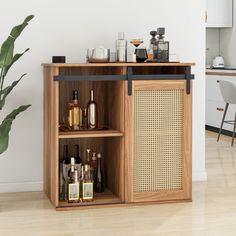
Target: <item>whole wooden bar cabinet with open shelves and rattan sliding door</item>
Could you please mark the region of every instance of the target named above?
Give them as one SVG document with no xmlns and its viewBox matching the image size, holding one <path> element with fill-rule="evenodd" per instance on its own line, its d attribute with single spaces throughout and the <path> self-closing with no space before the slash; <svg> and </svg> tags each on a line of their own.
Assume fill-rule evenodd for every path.
<svg viewBox="0 0 236 236">
<path fill-rule="evenodd" d="M 44 64 L 44 191 L 57 210 L 191 200 L 192 65 Z M 59 131 L 73 89 L 82 107 L 94 90 L 106 130 Z M 104 157 L 106 191 L 93 202 L 59 201 L 65 144 L 83 161 L 87 147 Z"/>
</svg>

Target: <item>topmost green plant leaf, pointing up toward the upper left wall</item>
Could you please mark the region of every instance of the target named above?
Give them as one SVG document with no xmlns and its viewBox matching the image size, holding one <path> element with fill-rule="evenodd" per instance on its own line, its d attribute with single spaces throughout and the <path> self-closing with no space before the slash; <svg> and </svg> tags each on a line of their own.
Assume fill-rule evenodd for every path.
<svg viewBox="0 0 236 236">
<path fill-rule="evenodd" d="M 14 42 L 20 36 L 28 22 L 33 19 L 33 15 L 27 16 L 22 24 L 16 25 L 12 28 L 10 36 L 2 44 L 0 50 L 0 68 L 7 67 L 13 60 Z"/>
</svg>

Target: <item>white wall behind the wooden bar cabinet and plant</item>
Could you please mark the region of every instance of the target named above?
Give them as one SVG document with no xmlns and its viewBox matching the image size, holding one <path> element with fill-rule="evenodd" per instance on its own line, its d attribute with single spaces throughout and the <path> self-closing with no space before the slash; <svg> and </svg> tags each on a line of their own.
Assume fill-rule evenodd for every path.
<svg viewBox="0 0 236 236">
<path fill-rule="evenodd" d="M 138 3 L 138 4 L 137 4 Z M 10 28 L 28 14 L 35 14 L 17 50 L 30 47 L 8 76 L 8 81 L 28 72 L 27 78 L 8 98 L 5 113 L 17 105 L 32 107 L 14 123 L 9 149 L 0 158 L 0 191 L 42 189 L 43 179 L 43 89 L 42 62 L 52 55 L 66 55 L 68 62 L 81 62 L 87 48 L 98 45 L 114 49 L 117 32 L 127 39 L 149 39 L 149 31 L 165 26 L 172 53 L 181 61 L 196 62 L 193 73 L 193 177 L 205 173 L 205 2 L 204 0 L 21 0 L 1 4 L 2 41 Z M 132 47 L 130 47 L 132 48 Z M 133 49 L 133 48 L 132 48 Z M 2 114 L 1 114 L 2 117 Z"/>
</svg>

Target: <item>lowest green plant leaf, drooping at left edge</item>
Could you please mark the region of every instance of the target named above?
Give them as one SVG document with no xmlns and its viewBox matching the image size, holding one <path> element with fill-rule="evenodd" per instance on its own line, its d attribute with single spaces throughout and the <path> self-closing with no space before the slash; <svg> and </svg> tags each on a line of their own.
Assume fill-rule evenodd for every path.
<svg viewBox="0 0 236 236">
<path fill-rule="evenodd" d="M 3 120 L 2 124 L 0 125 L 0 154 L 5 152 L 8 148 L 9 143 L 9 133 L 11 131 L 11 126 L 13 120 L 16 116 L 28 109 L 31 105 L 23 105 L 18 107 L 17 109 L 13 110 L 6 118 Z"/>
</svg>

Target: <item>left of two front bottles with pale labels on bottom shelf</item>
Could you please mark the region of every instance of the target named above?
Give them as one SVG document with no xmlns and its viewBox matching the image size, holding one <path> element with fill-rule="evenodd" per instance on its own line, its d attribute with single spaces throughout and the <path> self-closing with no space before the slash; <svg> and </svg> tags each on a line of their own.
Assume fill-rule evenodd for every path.
<svg viewBox="0 0 236 236">
<path fill-rule="evenodd" d="M 71 168 L 70 168 L 70 177 L 68 180 L 68 202 L 78 202 L 79 201 L 79 181 L 78 181 L 78 172 L 75 169 L 75 159 L 71 158 Z"/>
</svg>

